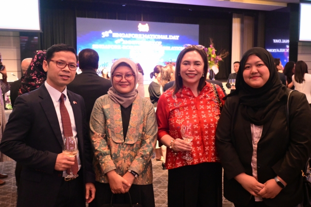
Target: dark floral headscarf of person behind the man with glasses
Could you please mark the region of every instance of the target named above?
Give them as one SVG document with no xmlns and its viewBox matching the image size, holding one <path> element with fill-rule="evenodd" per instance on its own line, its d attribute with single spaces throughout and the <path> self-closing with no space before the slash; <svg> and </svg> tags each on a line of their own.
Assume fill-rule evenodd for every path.
<svg viewBox="0 0 311 207">
<path fill-rule="evenodd" d="M 30 67 L 28 67 L 25 75 L 21 78 L 21 86 L 18 90 L 18 96 L 39 88 L 47 80 L 47 72 L 44 71 L 42 65 L 46 60 L 46 51 L 37 51 L 33 57 Z"/>
</svg>

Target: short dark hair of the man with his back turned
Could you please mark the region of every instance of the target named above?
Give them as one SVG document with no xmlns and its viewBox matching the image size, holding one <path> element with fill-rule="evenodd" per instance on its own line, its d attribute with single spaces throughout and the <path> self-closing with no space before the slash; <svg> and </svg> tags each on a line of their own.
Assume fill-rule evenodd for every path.
<svg viewBox="0 0 311 207">
<path fill-rule="evenodd" d="M 79 52 L 80 69 L 98 69 L 99 56 L 92 49 L 84 49 Z"/>
</svg>

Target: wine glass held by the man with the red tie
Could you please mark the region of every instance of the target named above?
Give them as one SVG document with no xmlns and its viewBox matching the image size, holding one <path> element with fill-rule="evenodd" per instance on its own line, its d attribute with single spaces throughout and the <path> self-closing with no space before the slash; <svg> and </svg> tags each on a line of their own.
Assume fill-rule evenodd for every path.
<svg viewBox="0 0 311 207">
<path fill-rule="evenodd" d="M 77 138 L 76 137 L 64 137 L 63 139 L 63 153 L 69 157 L 74 157 L 78 153 Z M 70 167 L 70 174 L 66 178 L 76 178 L 78 174 L 72 173 L 72 167 Z"/>
</svg>

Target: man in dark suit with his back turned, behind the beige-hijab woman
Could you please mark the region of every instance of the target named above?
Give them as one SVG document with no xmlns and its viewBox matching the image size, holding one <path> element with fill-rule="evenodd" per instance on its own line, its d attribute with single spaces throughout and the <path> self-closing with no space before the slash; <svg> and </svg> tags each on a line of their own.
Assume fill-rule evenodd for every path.
<svg viewBox="0 0 311 207">
<path fill-rule="evenodd" d="M 107 94 L 112 86 L 111 81 L 97 75 L 99 56 L 92 49 L 79 52 L 79 68 L 82 73 L 77 75 L 67 86 L 68 90 L 83 97 L 86 104 L 86 120 L 89 122 L 96 99 Z"/>
</svg>

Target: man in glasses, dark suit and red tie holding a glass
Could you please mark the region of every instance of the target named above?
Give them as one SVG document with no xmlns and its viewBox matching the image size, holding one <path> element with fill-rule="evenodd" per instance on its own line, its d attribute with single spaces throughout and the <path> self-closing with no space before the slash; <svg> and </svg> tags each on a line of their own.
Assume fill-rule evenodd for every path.
<svg viewBox="0 0 311 207">
<path fill-rule="evenodd" d="M 53 45 L 46 55 L 47 81 L 17 97 L 0 150 L 23 164 L 17 207 L 85 207 L 95 196 L 86 111 L 83 98 L 66 88 L 74 79 L 77 57 L 64 44 Z M 77 138 L 75 157 L 62 153 L 68 134 Z M 64 178 L 70 168 L 77 178 Z"/>
</svg>

